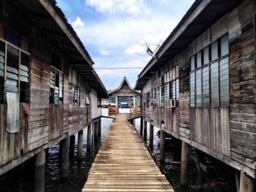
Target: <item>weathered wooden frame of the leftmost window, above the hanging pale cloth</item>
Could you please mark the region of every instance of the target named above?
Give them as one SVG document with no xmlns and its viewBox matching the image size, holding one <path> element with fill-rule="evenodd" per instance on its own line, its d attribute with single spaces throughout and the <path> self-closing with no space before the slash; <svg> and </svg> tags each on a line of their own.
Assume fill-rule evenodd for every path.
<svg viewBox="0 0 256 192">
<path fill-rule="evenodd" d="M 4 67 L 4 70 L 3 70 L 3 78 L 4 78 L 4 89 L 3 89 L 3 91 L 4 91 L 4 98 L 3 98 L 3 104 L 6 104 L 6 93 L 7 93 L 7 47 L 8 46 L 11 46 L 11 47 L 13 47 L 14 49 L 17 49 L 18 50 L 18 52 L 19 52 L 19 63 L 18 63 L 18 80 L 17 80 L 17 88 L 18 88 L 18 91 L 17 91 L 17 93 L 18 93 L 18 100 L 19 100 L 19 103 L 20 103 L 20 57 L 21 57 L 21 52 L 23 52 L 23 53 L 25 53 L 26 55 L 28 55 L 29 56 L 29 71 L 28 71 L 28 74 L 29 74 L 29 77 L 28 77 L 28 84 L 30 85 L 30 68 L 31 68 L 31 61 L 30 61 L 30 59 L 31 59 L 31 55 L 30 55 L 30 53 L 29 52 L 27 52 L 27 51 L 25 51 L 25 50 L 23 50 L 23 49 L 21 49 L 20 47 L 18 47 L 18 46 L 16 46 L 15 44 L 12 44 L 11 42 L 9 42 L 9 41 L 7 41 L 7 40 L 5 40 L 5 39 L 3 39 L 3 38 L 0 38 L 0 41 L 2 41 L 4 44 L 5 44 L 5 51 L 4 51 L 4 54 L 5 54 L 5 56 L 4 56 L 4 65 L 3 65 L 3 67 Z M 28 90 L 28 92 L 29 92 L 30 90 Z M 26 100 L 27 101 L 29 101 L 29 99 L 28 98 L 26 98 Z"/>
</svg>

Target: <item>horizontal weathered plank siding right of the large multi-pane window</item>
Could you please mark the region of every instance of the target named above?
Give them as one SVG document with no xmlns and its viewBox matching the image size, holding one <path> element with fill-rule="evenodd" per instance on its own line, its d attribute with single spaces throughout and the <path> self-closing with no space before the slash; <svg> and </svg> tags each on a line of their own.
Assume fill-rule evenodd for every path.
<svg viewBox="0 0 256 192">
<path fill-rule="evenodd" d="M 246 0 L 229 15 L 231 159 L 256 167 L 256 81 L 253 14 Z"/>
</svg>

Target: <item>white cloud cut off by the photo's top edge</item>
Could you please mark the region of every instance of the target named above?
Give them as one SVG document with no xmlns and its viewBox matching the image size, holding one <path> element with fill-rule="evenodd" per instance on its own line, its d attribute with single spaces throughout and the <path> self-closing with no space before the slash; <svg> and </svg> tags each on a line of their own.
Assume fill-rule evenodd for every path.
<svg viewBox="0 0 256 192">
<path fill-rule="evenodd" d="M 145 6 L 144 0 L 86 0 L 85 4 L 102 13 L 150 13 L 150 10 Z"/>
</svg>

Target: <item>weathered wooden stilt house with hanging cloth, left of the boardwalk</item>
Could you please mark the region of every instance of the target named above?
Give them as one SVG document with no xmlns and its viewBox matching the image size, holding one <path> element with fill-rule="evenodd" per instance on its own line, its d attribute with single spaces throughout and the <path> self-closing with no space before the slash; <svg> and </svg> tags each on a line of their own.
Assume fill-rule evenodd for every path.
<svg viewBox="0 0 256 192">
<path fill-rule="evenodd" d="M 0 175 L 97 121 L 108 97 L 55 4 L 0 1 Z"/>
</svg>

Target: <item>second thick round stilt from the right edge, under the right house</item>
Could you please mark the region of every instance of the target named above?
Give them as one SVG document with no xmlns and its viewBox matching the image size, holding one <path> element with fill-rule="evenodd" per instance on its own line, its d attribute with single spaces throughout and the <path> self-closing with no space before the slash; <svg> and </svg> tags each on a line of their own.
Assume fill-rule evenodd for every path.
<svg viewBox="0 0 256 192">
<path fill-rule="evenodd" d="M 183 141 L 182 148 L 181 148 L 181 174 L 180 174 L 180 184 L 183 186 L 187 186 L 189 183 L 188 168 L 189 168 L 189 145 Z"/>
</svg>

